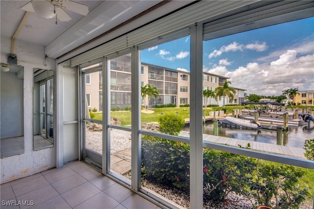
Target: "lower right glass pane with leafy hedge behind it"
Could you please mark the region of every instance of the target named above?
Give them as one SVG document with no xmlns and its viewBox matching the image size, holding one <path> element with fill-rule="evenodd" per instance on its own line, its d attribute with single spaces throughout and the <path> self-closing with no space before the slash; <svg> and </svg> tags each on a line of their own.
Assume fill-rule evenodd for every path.
<svg viewBox="0 0 314 209">
<path fill-rule="evenodd" d="M 203 149 L 204 208 L 313 208 L 313 169 Z"/>
</svg>

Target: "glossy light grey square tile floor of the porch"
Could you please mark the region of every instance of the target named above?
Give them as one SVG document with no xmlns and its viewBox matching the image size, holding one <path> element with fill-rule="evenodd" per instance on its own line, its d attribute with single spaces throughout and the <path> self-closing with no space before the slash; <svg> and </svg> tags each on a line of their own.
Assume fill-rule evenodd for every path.
<svg viewBox="0 0 314 209">
<path fill-rule="evenodd" d="M 13 206 L 5 205 L 4 201 L 13 203 Z M 28 206 L 19 206 L 22 201 Z M 160 209 L 79 161 L 2 184 L 0 208 Z"/>
</svg>

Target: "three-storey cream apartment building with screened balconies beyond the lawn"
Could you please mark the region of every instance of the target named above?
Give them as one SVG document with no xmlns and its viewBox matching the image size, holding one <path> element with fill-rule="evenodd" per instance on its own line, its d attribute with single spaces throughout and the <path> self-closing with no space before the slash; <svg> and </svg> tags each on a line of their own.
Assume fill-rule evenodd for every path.
<svg viewBox="0 0 314 209">
<path fill-rule="evenodd" d="M 111 108 L 131 107 L 131 64 L 130 56 L 110 60 L 110 105 Z M 175 104 L 177 107 L 190 102 L 190 73 L 161 66 L 141 63 L 141 86 L 150 84 L 156 87 L 159 95 L 148 101 L 149 107 L 162 104 Z M 225 76 L 203 72 L 203 90 L 212 90 L 223 86 L 229 79 Z M 244 89 L 235 88 L 233 99 L 225 97 L 225 104 L 241 104 L 244 101 Z M 89 109 L 102 111 L 102 71 L 85 74 L 86 102 Z M 207 104 L 223 105 L 223 98 L 209 98 Z M 144 101 L 142 101 L 144 104 Z M 146 103 L 147 104 L 147 103 Z M 204 105 L 204 99 L 203 99 Z"/>
</svg>

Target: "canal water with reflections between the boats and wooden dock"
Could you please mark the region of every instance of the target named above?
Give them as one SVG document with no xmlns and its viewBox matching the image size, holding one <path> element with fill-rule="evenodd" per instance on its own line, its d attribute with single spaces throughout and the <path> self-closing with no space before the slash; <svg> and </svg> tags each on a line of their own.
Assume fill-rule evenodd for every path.
<svg viewBox="0 0 314 209">
<path fill-rule="evenodd" d="M 184 131 L 188 131 L 189 128 L 184 128 Z M 213 122 L 206 123 L 203 127 L 203 133 L 214 135 Z M 289 127 L 287 132 L 284 131 L 283 141 L 277 142 L 277 132 L 274 130 L 248 130 L 229 127 L 218 127 L 218 136 L 228 137 L 234 139 L 243 139 L 257 142 L 264 142 L 270 144 L 278 144 L 290 147 L 304 148 L 304 142 L 306 139 L 314 139 L 314 128 L 307 126 L 292 126 Z"/>
</svg>

